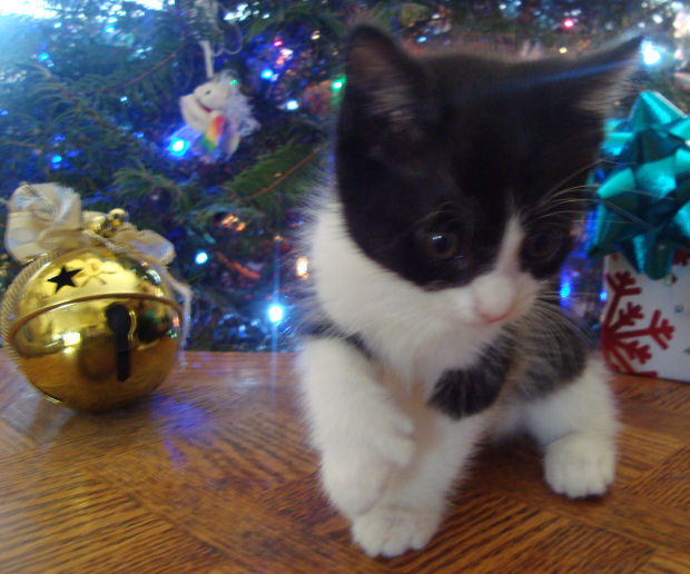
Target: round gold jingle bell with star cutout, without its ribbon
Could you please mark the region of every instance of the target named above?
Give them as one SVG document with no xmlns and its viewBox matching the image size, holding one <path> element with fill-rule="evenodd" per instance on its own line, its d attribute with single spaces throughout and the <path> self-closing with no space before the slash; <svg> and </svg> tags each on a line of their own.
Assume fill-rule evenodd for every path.
<svg viewBox="0 0 690 574">
<path fill-rule="evenodd" d="M 162 383 L 181 343 L 167 277 L 105 246 L 49 258 L 11 303 L 6 344 L 52 400 L 90 412 L 131 403 Z"/>
</svg>

